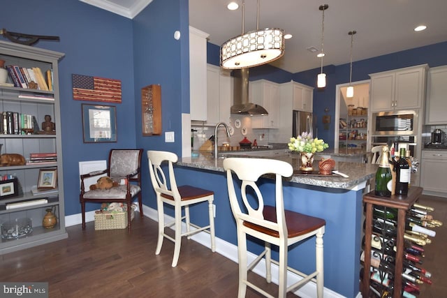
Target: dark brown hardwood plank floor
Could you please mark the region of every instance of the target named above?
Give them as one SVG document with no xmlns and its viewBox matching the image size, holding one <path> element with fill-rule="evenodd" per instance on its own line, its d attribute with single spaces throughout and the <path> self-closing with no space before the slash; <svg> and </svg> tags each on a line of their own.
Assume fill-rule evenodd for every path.
<svg viewBox="0 0 447 298">
<path fill-rule="evenodd" d="M 434 217 L 447 223 L 447 199 L 423 196 L 436 208 Z M 155 255 L 157 223 L 135 216 L 133 230 L 95 231 L 87 223 L 67 228 L 68 239 L 0 256 L 0 281 L 48 282 L 50 297 L 237 297 L 237 264 L 193 240 L 182 239 L 177 267 L 170 266 L 174 245 L 165 240 Z M 423 285 L 424 298 L 445 297 L 447 228 L 437 228 L 423 267 L 433 285 Z M 328 249 L 328 248 L 326 248 Z M 256 274 L 249 279 L 277 293 L 277 285 Z M 247 297 L 261 297 L 247 289 Z M 287 297 L 296 297 L 289 293 Z"/>
</svg>

